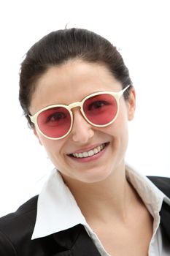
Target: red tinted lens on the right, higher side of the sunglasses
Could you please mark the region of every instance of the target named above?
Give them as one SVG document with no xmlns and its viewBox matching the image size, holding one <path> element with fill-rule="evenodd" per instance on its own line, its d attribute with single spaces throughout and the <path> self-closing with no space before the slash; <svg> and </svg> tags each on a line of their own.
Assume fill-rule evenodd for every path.
<svg viewBox="0 0 170 256">
<path fill-rule="evenodd" d="M 117 101 L 110 94 L 99 94 L 86 99 L 83 110 L 93 124 L 108 124 L 117 114 Z"/>
</svg>

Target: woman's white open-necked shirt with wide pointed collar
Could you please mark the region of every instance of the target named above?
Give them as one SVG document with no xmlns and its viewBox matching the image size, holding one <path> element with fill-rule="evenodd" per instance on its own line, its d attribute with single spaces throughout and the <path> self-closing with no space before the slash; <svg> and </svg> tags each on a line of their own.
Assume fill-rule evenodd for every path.
<svg viewBox="0 0 170 256">
<path fill-rule="evenodd" d="M 126 166 L 126 176 L 154 219 L 148 256 L 170 255 L 170 245 L 169 248 L 163 245 L 160 227 L 161 217 L 159 215 L 163 200 L 166 200 L 170 205 L 169 198 L 155 187 L 148 178 L 136 173 L 131 167 Z M 64 184 L 61 174 L 54 169 L 39 195 L 36 224 L 31 239 L 49 236 L 78 224 L 84 225 L 98 252 L 102 256 L 110 256 L 96 233 L 86 222 L 72 193 Z"/>
</svg>

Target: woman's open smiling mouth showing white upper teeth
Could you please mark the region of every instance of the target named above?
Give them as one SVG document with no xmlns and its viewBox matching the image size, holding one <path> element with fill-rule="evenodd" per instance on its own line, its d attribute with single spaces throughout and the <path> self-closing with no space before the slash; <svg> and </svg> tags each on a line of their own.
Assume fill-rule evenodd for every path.
<svg viewBox="0 0 170 256">
<path fill-rule="evenodd" d="M 90 149 L 89 151 L 81 152 L 81 153 L 73 153 L 69 154 L 70 157 L 74 158 L 86 158 L 86 157 L 93 157 L 93 155 L 98 154 L 99 152 L 103 151 L 104 148 L 109 143 L 102 143 L 101 145 L 97 146 L 96 148 Z"/>
</svg>

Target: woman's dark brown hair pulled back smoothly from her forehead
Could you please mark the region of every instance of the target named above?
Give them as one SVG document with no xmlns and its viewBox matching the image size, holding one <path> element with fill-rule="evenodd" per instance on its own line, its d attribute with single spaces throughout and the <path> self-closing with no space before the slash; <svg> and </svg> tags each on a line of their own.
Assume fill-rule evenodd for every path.
<svg viewBox="0 0 170 256">
<path fill-rule="evenodd" d="M 31 127 L 34 125 L 28 117 L 28 108 L 36 81 L 49 67 L 63 64 L 69 59 L 105 64 L 123 88 L 132 85 L 122 56 L 107 39 L 86 29 L 53 31 L 28 50 L 21 64 L 19 100 Z M 125 99 L 128 99 L 128 91 L 124 94 Z"/>
</svg>

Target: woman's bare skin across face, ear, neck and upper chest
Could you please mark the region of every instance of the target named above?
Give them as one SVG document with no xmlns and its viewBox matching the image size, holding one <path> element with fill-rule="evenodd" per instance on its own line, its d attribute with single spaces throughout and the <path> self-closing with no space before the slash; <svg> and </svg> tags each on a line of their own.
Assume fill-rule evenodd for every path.
<svg viewBox="0 0 170 256">
<path fill-rule="evenodd" d="M 67 61 L 61 66 L 50 67 L 39 78 L 31 99 L 30 112 L 34 115 L 47 105 L 69 105 L 96 91 L 121 89 L 120 82 L 104 65 L 82 60 Z M 74 108 L 72 132 L 61 140 L 49 140 L 34 129 L 36 138 L 61 172 L 89 225 L 98 234 L 107 251 L 111 254 L 117 252 L 118 255 L 127 255 L 127 252 L 128 255 L 147 255 L 152 236 L 150 214 L 125 178 L 128 121 L 134 118 L 135 105 L 135 91 L 131 89 L 128 100 L 120 98 L 120 112 L 115 122 L 102 128 L 88 124 L 79 108 Z M 102 143 L 109 145 L 98 159 L 79 162 L 69 157 L 69 154 L 76 151 L 87 151 Z M 134 225 L 134 219 L 138 218 L 141 219 L 140 226 Z M 110 230 L 112 225 L 115 227 L 114 232 Z M 142 230 L 145 239 L 141 237 Z M 120 237 L 121 241 L 123 238 L 126 241 L 125 248 L 120 246 Z M 142 246 L 131 251 L 130 238 Z"/>
</svg>

